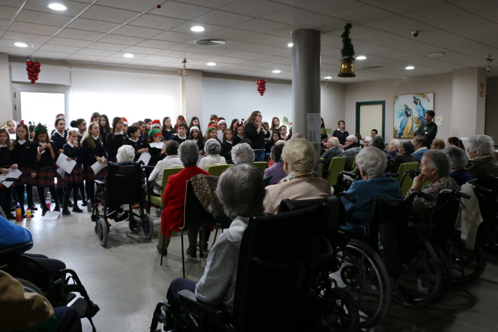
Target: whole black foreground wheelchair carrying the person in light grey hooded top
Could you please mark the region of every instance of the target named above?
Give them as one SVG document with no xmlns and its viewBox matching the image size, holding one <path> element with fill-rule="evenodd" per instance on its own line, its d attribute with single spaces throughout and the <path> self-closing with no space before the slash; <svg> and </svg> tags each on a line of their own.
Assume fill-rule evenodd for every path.
<svg viewBox="0 0 498 332">
<path fill-rule="evenodd" d="M 358 308 L 351 296 L 332 289 L 319 267 L 334 252 L 323 237 L 327 204 L 252 217 L 244 232 L 237 268 L 233 314 L 222 305 L 206 304 L 182 290 L 176 316 L 180 331 L 358 331 Z M 301 229 L 302 221 L 310 221 Z M 288 245 L 299 229 L 300 245 Z M 280 236 L 275 237 L 274 231 Z M 171 315 L 160 302 L 150 331 Z"/>
</svg>

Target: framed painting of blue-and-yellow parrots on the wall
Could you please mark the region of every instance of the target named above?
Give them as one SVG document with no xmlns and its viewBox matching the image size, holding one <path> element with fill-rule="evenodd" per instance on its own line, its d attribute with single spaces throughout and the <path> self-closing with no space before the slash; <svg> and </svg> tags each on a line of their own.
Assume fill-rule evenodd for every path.
<svg viewBox="0 0 498 332">
<path fill-rule="evenodd" d="M 425 124 L 425 112 L 434 111 L 434 93 L 394 95 L 394 138 L 413 138 Z"/>
</svg>

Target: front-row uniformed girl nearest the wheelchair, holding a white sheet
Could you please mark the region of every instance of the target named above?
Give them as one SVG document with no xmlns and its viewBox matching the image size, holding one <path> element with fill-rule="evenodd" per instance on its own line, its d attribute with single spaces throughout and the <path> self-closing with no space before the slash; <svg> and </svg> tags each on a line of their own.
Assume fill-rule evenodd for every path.
<svg viewBox="0 0 498 332">
<path fill-rule="evenodd" d="M 106 149 L 104 148 L 104 142 L 102 142 L 99 136 L 99 130 L 99 124 L 91 122 L 85 136 L 81 140 L 81 148 L 84 156 L 83 178 L 86 184 L 87 197 L 91 202 L 91 204 L 87 205 L 88 212 L 92 212 L 92 207 L 95 204 L 95 180 L 102 181 L 107 171 L 107 168 L 104 168 L 95 174 L 91 167 L 97 161 L 99 163 L 107 163 L 107 159 L 105 161 L 102 159 L 102 157 L 106 156 Z"/>
</svg>

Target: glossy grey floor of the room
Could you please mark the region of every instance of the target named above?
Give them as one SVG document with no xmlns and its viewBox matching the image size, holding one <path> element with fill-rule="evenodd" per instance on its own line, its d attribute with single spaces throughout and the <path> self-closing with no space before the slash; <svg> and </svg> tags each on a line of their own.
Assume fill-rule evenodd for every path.
<svg viewBox="0 0 498 332">
<path fill-rule="evenodd" d="M 106 247 L 99 244 L 94 223 L 86 209 L 82 214 L 43 221 L 39 213 L 16 224 L 33 234 L 32 253 L 64 261 L 74 269 L 91 299 L 99 305 L 94 319 L 99 332 L 147 331 L 155 304 L 165 300 L 169 283 L 182 276 L 180 236 L 173 235 L 159 266 L 156 244 L 160 220 L 154 217 L 154 237 L 131 234 L 126 221 L 111 221 Z M 211 239 L 213 237 L 211 236 Z M 184 240 L 187 241 L 185 235 Z M 373 331 L 498 331 L 498 259 L 486 256 L 488 265 L 470 286 L 454 289 L 441 303 L 412 311 L 399 305 Z M 186 258 L 186 277 L 198 280 L 205 259 Z M 91 331 L 86 320 L 84 331 Z"/>
</svg>

